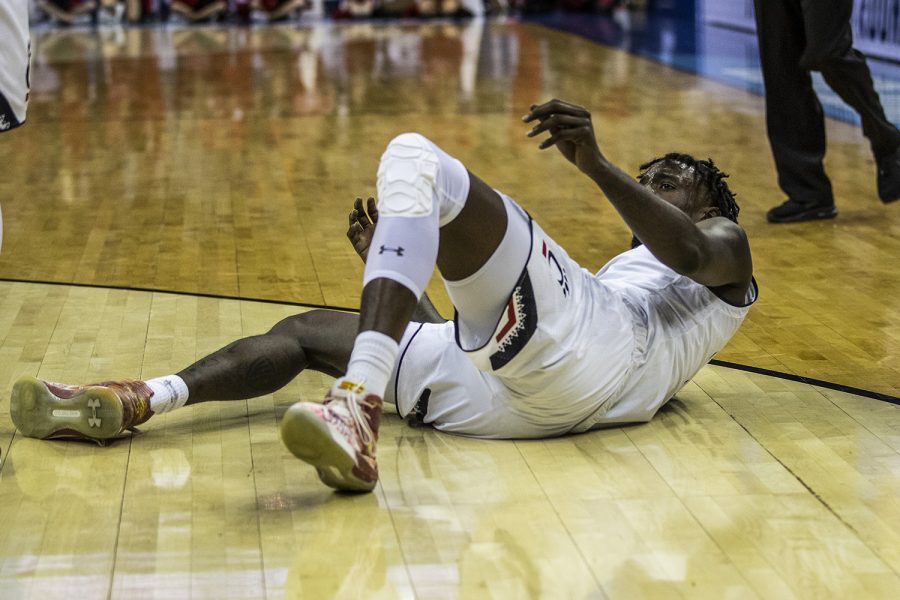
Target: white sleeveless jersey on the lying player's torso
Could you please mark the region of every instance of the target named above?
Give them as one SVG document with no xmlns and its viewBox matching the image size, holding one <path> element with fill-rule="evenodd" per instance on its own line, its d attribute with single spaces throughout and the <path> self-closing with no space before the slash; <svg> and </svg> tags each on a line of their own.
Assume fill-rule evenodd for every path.
<svg viewBox="0 0 900 600">
<path fill-rule="evenodd" d="M 742 306 L 679 275 L 640 246 L 596 275 L 634 312 L 638 364 L 619 394 L 578 429 L 649 421 L 737 332 L 756 301 L 754 280 Z"/>
</svg>

